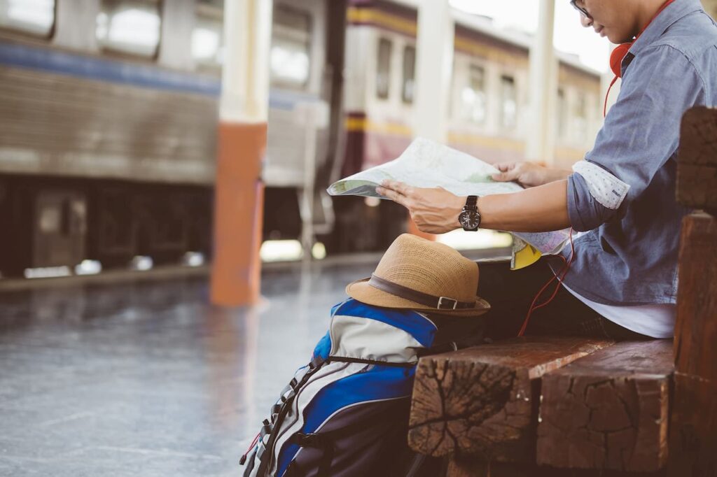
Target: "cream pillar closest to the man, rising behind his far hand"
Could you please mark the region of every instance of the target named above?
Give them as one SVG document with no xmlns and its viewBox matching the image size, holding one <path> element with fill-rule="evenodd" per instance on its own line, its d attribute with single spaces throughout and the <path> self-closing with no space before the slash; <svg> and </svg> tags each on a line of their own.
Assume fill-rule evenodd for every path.
<svg viewBox="0 0 717 477">
<path fill-rule="evenodd" d="M 530 53 L 531 125 L 526 159 L 551 165 L 555 161 L 555 118 L 558 95 L 557 61 L 553 47 L 555 0 L 538 0 L 538 31 Z"/>
</svg>

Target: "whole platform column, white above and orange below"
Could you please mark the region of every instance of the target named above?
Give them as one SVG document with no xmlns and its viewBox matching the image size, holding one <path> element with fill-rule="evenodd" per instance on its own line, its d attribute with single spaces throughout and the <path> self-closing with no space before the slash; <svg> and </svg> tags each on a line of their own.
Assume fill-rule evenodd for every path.
<svg viewBox="0 0 717 477">
<path fill-rule="evenodd" d="M 260 299 L 272 0 L 224 0 L 212 303 Z"/>
</svg>

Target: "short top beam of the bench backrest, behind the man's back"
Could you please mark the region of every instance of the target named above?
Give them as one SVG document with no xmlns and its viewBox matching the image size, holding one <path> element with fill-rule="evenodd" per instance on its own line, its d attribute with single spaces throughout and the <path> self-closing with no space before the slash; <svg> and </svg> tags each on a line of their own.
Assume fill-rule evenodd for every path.
<svg viewBox="0 0 717 477">
<path fill-rule="evenodd" d="M 717 110 L 694 107 L 683 116 L 677 199 L 684 206 L 717 210 Z"/>
</svg>

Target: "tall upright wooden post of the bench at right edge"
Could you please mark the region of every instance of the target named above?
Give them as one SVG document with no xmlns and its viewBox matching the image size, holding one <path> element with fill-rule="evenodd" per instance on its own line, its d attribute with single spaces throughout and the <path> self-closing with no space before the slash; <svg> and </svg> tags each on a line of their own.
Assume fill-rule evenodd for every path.
<svg viewBox="0 0 717 477">
<path fill-rule="evenodd" d="M 685 217 L 668 474 L 717 476 L 717 219 Z"/>
</svg>

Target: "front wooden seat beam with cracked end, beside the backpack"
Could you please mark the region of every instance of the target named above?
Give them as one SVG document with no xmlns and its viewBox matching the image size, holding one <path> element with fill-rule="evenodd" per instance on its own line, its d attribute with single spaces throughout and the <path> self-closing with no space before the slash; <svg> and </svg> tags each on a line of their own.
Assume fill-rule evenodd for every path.
<svg viewBox="0 0 717 477">
<path fill-rule="evenodd" d="M 416 371 L 409 445 L 429 456 L 531 461 L 539 378 L 612 342 L 532 337 L 424 357 Z"/>
</svg>

